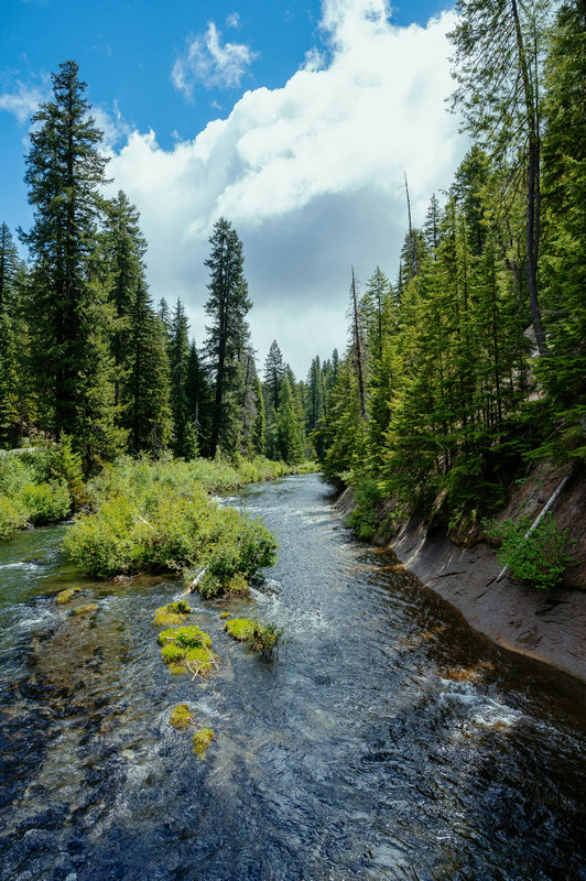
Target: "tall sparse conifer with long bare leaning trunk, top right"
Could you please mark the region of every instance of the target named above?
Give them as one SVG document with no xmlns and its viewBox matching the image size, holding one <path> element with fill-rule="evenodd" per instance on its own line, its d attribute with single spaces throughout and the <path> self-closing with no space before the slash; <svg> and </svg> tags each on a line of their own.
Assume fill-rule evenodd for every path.
<svg viewBox="0 0 586 881">
<path fill-rule="evenodd" d="M 538 290 L 540 243 L 540 76 L 545 32 L 543 0 L 458 0 L 449 35 L 456 47 L 454 106 L 468 130 L 499 160 L 509 160 L 509 191 L 525 192 L 527 283 L 540 352 L 545 351 Z M 519 161 L 521 159 L 521 161 Z"/>
</svg>

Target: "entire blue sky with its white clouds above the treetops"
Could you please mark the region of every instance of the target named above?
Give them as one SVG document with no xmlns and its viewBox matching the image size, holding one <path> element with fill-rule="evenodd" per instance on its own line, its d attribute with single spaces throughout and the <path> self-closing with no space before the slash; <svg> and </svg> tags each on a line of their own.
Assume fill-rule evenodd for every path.
<svg viewBox="0 0 586 881">
<path fill-rule="evenodd" d="M 74 58 L 116 188 L 137 204 L 151 294 L 205 334 L 203 260 L 225 215 L 245 244 L 262 363 L 273 338 L 304 377 L 345 346 L 350 265 L 394 275 L 402 171 L 415 213 L 462 157 L 442 0 L 3 0 L 0 219 L 26 228 L 28 120 Z"/>
</svg>

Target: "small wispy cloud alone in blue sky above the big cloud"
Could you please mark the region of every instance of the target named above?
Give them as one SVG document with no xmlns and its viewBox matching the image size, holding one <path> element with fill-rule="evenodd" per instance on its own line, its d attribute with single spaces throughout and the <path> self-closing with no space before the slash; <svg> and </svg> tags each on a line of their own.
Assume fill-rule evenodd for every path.
<svg viewBox="0 0 586 881">
<path fill-rule="evenodd" d="M 238 17 L 230 17 L 229 25 L 238 26 Z M 196 83 L 207 88 L 239 86 L 256 57 L 243 43 L 223 44 L 218 29 L 210 21 L 205 34 L 187 40 L 187 53 L 175 61 L 171 81 L 186 97 L 192 97 Z"/>
</svg>

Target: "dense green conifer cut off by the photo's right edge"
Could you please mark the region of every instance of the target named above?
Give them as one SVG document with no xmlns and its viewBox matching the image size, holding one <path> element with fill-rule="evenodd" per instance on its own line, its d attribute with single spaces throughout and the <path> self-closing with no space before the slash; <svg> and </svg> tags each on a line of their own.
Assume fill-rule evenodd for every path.
<svg viewBox="0 0 586 881">
<path fill-rule="evenodd" d="M 550 331 L 540 379 L 551 395 L 560 448 L 584 457 L 586 413 L 586 11 L 565 2 L 546 67 L 543 279 Z M 582 447 L 582 453 L 579 449 Z M 557 450 L 558 452 L 558 450 Z"/>
</svg>

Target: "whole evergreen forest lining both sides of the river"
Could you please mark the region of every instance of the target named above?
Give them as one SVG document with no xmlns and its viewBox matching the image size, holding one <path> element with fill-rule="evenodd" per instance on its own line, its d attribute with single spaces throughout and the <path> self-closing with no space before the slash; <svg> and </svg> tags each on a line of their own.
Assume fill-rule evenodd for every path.
<svg viewBox="0 0 586 881">
<path fill-rule="evenodd" d="M 585 12 L 497 6 L 460 3 L 451 34 L 464 161 L 420 226 L 405 176 L 397 278 L 377 267 L 361 285 L 348 268 L 348 345 L 305 381 L 276 341 L 259 376 L 227 219 L 203 345 L 181 300 L 153 305 L 139 211 L 104 197 L 101 132 L 62 64 L 33 117 L 26 262 L 1 227 L 0 447 L 65 437 L 85 475 L 122 453 L 314 458 L 355 487 L 363 536 L 382 498 L 454 525 L 502 507 L 528 464 L 583 463 Z"/>
</svg>

